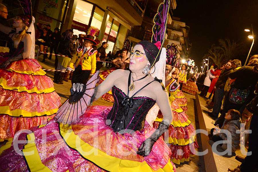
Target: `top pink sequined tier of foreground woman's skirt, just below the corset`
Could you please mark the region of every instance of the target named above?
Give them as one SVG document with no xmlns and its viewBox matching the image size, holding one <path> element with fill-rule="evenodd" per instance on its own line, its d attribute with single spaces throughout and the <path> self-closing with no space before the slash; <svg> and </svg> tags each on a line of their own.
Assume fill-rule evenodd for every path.
<svg viewBox="0 0 258 172">
<path fill-rule="evenodd" d="M 163 141 L 162 138 L 159 138 L 153 145 L 150 155 L 142 157 L 136 152 L 138 147 L 145 141 L 146 138 L 155 131 L 154 128 L 150 127 L 147 122 L 145 122 L 144 130 L 136 131 L 133 135 L 125 133 L 121 135 L 120 133 L 114 133 L 113 130 L 105 125 L 105 117 L 111 110 L 111 107 L 105 106 L 92 106 L 87 109 L 85 114 L 81 117 L 81 121 L 77 125 L 73 125 L 73 131 L 78 135 L 83 141 L 87 142 L 89 145 L 94 146 L 93 138 L 98 138 L 97 148 L 104 152 L 109 152 L 111 156 L 127 159 L 132 161 L 139 161 L 146 163 L 154 170 L 163 168 L 170 159 L 171 152 L 169 147 Z M 97 124 L 98 129 L 95 131 L 93 128 Z M 91 133 L 83 133 L 85 130 L 91 131 Z M 111 131 L 110 134 L 107 134 L 107 131 Z M 110 139 L 107 139 L 110 137 Z M 110 141 L 110 147 L 106 148 L 106 141 Z M 135 144 L 136 145 L 135 145 Z M 94 146 L 95 147 L 95 146 Z M 128 153 L 129 155 L 121 155 L 120 150 Z"/>
</svg>

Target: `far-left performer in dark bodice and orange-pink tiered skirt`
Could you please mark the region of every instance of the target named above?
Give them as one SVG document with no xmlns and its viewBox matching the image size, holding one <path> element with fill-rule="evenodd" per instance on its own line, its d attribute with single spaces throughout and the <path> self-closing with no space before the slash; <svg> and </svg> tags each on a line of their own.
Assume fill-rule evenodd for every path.
<svg viewBox="0 0 258 172">
<path fill-rule="evenodd" d="M 0 25 L 11 44 L 9 53 L 0 56 L 0 141 L 14 137 L 20 129 L 41 125 L 53 118 L 60 106 L 52 80 L 37 60 L 28 59 L 34 49 L 27 32 L 32 19 L 31 2 L 20 4 L 25 14 L 13 19 L 15 29 Z"/>
</svg>

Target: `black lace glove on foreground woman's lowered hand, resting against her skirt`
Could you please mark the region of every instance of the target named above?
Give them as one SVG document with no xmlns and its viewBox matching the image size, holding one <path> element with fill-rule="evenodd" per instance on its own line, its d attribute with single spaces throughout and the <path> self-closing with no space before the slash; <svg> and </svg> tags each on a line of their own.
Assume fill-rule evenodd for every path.
<svg viewBox="0 0 258 172">
<path fill-rule="evenodd" d="M 159 124 L 157 130 L 146 139 L 138 148 L 137 154 L 142 156 L 148 156 L 152 150 L 154 143 L 159 139 L 159 137 L 168 129 L 169 123 L 166 121 L 162 121 Z"/>
</svg>

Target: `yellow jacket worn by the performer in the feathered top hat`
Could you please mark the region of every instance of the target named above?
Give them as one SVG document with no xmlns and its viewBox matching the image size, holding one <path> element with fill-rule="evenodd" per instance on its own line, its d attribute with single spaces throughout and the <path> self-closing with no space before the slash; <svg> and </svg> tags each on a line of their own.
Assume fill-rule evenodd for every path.
<svg viewBox="0 0 258 172">
<path fill-rule="evenodd" d="M 84 46 L 77 48 L 77 53 L 73 55 L 67 69 L 73 71 L 75 67 L 81 65 L 83 71 L 91 70 L 91 74 L 93 74 L 96 71 L 96 55 L 98 51 L 91 48 L 83 54 L 83 49 Z"/>
</svg>

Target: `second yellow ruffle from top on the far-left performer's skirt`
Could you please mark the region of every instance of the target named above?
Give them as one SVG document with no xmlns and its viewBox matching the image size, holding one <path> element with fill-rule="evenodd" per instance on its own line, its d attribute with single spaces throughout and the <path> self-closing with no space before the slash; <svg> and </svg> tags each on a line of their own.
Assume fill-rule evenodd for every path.
<svg viewBox="0 0 258 172">
<path fill-rule="evenodd" d="M 18 92 L 22 92 L 22 91 L 26 91 L 27 93 L 37 93 L 37 94 L 41 94 L 41 93 L 52 93 L 53 91 L 55 91 L 54 87 L 51 88 L 47 88 L 47 89 L 41 89 L 38 90 L 37 87 L 34 87 L 33 89 L 28 90 L 26 87 L 9 87 L 7 85 L 7 81 L 4 78 L 0 78 L 0 85 L 3 87 L 3 89 L 6 90 L 14 90 L 16 89 L 16 91 Z"/>
</svg>

